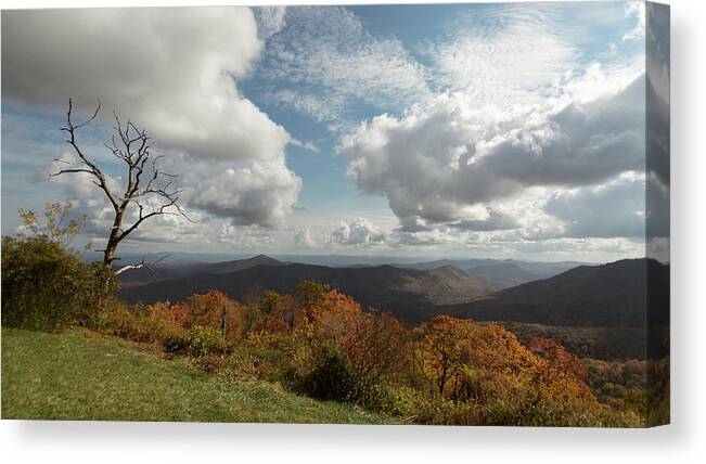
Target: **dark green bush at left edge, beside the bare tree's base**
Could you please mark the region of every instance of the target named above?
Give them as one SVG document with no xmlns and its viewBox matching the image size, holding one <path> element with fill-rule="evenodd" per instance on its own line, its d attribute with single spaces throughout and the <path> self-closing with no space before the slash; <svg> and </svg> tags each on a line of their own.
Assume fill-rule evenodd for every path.
<svg viewBox="0 0 706 464">
<path fill-rule="evenodd" d="M 2 239 L 2 325 L 55 331 L 93 326 L 117 289 L 113 271 L 47 237 Z"/>
</svg>

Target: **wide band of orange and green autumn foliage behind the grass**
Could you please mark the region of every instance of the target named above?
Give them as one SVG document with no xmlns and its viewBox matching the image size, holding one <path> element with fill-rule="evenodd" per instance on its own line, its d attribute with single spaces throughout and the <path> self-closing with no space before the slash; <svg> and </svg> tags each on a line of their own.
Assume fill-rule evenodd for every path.
<svg viewBox="0 0 706 464">
<path fill-rule="evenodd" d="M 499 325 L 446 315 L 408 327 L 316 282 L 294 295 L 253 293 L 243 302 L 214 289 L 178 304 L 121 307 L 112 318 L 104 326 L 117 327 L 113 333 L 194 356 L 220 377 L 278 382 L 403 421 L 640 425 L 642 403 L 614 408 L 594 395 L 599 370 L 613 371 L 587 369 L 553 339 L 523 345 Z"/>
</svg>

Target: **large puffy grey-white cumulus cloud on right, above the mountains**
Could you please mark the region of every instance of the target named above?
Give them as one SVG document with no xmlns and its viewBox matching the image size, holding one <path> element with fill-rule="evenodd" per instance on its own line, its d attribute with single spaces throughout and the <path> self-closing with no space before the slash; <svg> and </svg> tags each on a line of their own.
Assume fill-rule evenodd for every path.
<svg viewBox="0 0 706 464">
<path fill-rule="evenodd" d="M 591 185 L 644 168 L 644 76 L 591 102 L 496 119 L 463 94 L 442 94 L 405 117 L 362 124 L 338 150 L 356 184 L 385 195 L 402 228 L 420 218 L 509 229 L 506 217 L 488 221 L 486 205 L 532 186 Z"/>
</svg>

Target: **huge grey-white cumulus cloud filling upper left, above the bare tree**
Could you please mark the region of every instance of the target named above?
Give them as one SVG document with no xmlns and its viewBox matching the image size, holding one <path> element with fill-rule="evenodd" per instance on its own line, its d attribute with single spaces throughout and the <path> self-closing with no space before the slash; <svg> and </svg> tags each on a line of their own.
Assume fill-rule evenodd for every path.
<svg viewBox="0 0 706 464">
<path fill-rule="evenodd" d="M 235 85 L 261 52 L 257 34 L 242 8 L 5 12 L 2 94 L 53 109 L 72 96 L 82 112 L 101 98 L 104 117 L 130 117 L 169 154 L 188 207 L 272 227 L 300 179 L 285 164 L 290 134 Z"/>
</svg>

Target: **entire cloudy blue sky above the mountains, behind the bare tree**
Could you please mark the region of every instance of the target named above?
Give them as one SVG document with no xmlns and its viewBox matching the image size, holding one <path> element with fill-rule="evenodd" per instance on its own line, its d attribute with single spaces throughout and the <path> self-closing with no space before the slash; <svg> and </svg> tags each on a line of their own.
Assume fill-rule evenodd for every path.
<svg viewBox="0 0 706 464">
<path fill-rule="evenodd" d="M 144 222 L 125 252 L 644 256 L 645 17 L 640 2 L 3 12 L 2 234 L 62 199 L 104 243 L 102 192 L 48 176 L 75 159 L 68 98 L 82 115 L 100 98 L 86 153 L 119 189 L 103 141 L 129 117 L 191 218 Z"/>
</svg>

